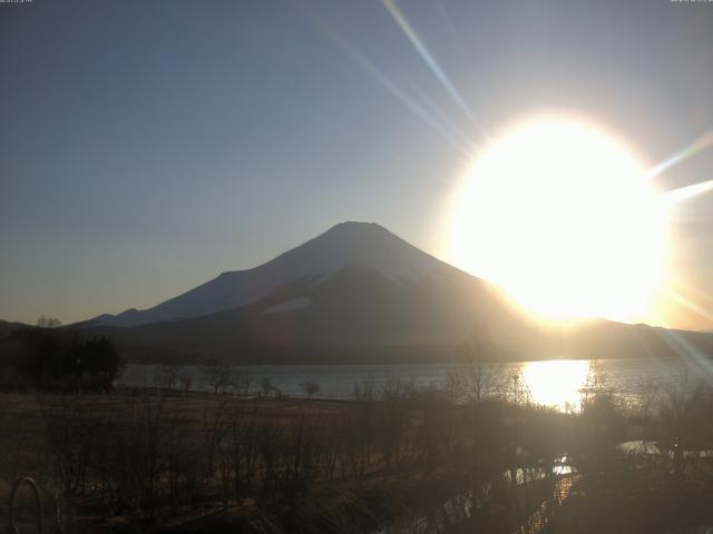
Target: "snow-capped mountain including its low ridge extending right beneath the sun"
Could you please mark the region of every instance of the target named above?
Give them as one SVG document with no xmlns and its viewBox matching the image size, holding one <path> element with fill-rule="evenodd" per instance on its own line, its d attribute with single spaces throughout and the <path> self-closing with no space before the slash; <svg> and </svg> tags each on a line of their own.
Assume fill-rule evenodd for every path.
<svg viewBox="0 0 713 534">
<path fill-rule="evenodd" d="M 342 222 L 276 258 L 144 310 L 81 323 L 129 362 L 260 364 L 452 360 L 478 339 L 499 358 L 713 352 L 713 336 L 602 319 L 544 326 L 487 281 L 385 228 Z"/>
</svg>

